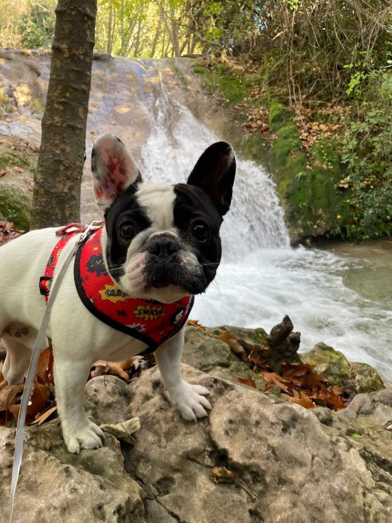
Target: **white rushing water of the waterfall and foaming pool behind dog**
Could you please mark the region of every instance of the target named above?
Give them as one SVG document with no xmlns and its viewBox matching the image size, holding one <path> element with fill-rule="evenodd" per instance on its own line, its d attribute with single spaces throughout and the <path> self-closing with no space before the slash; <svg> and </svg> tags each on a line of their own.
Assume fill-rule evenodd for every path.
<svg viewBox="0 0 392 523">
<path fill-rule="evenodd" d="M 145 179 L 186 181 L 199 155 L 220 140 L 163 89 L 146 104 L 151 134 L 142 149 Z M 191 317 L 212 326 L 269 330 L 288 314 L 301 349 L 322 341 L 392 378 L 387 303 L 344 285 L 359 261 L 327 251 L 291 248 L 283 212 L 268 173 L 238 160 L 232 208 L 222 226 L 223 258 L 216 281 L 197 297 Z"/>
</svg>

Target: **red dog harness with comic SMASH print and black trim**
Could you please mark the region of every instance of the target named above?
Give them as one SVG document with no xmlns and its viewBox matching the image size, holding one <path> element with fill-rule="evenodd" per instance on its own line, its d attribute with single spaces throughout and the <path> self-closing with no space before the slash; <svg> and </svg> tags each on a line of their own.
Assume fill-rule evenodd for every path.
<svg viewBox="0 0 392 523">
<path fill-rule="evenodd" d="M 68 240 L 85 226 L 71 224 L 56 234 L 63 235 L 55 245 L 49 258 L 45 275 L 40 279 L 40 292 L 48 301 L 50 283 L 61 250 Z M 86 308 L 103 323 L 148 346 L 144 352 L 151 353 L 171 338 L 187 322 L 194 297 L 185 296 L 174 303 L 160 303 L 153 300 L 133 298 L 120 289 L 112 280 L 103 263 L 101 234 L 99 229 L 88 233 L 76 252 L 74 279 L 79 298 Z"/>
</svg>

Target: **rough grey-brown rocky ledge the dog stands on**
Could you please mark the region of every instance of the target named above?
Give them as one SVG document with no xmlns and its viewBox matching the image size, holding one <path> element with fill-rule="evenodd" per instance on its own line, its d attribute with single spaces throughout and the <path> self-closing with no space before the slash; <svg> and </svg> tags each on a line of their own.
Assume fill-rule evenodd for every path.
<svg viewBox="0 0 392 523">
<path fill-rule="evenodd" d="M 225 332 L 232 337 L 216 338 Z M 184 360 L 192 367 L 183 365 L 183 375 L 210 390 L 213 407 L 198 423 L 171 407 L 156 367 L 130 384 L 90 380 L 89 416 L 98 423 L 139 416 L 133 444 L 108 434 L 102 449 L 76 456 L 67 453 L 57 420 L 28 428 L 15 521 L 389 523 L 392 388 L 324 345 L 299 358 L 312 358 L 329 383 L 331 369 L 340 369 L 340 385 L 362 391 L 366 378 L 373 392 L 352 395 L 335 412 L 288 402 L 278 388 L 263 393 L 266 382 L 254 373 L 257 388 L 236 382 L 252 373 L 247 351 L 255 343 L 268 351 L 273 334 L 187 327 Z M 229 339 L 236 340 L 231 349 Z M 284 339 L 285 357 L 297 358 L 295 336 L 291 347 Z M 14 436 L 15 429 L 0 428 L 0 521 L 9 516 Z"/>
</svg>

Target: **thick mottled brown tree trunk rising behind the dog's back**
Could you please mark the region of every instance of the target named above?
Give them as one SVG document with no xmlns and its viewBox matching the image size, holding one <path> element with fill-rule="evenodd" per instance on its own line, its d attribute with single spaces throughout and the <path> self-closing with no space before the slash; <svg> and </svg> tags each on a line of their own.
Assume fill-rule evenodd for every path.
<svg viewBox="0 0 392 523">
<path fill-rule="evenodd" d="M 59 0 L 31 229 L 80 220 L 97 0 Z"/>
</svg>

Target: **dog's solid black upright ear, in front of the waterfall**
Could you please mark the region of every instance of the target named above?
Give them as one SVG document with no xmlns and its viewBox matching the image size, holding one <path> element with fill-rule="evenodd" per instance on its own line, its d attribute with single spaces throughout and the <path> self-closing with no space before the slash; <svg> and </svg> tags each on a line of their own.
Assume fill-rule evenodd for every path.
<svg viewBox="0 0 392 523">
<path fill-rule="evenodd" d="M 236 159 L 232 146 L 216 142 L 200 156 L 189 175 L 188 184 L 203 189 L 223 216 L 230 208 L 235 174 Z"/>
</svg>

